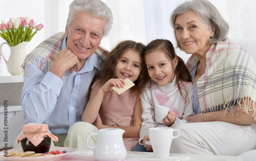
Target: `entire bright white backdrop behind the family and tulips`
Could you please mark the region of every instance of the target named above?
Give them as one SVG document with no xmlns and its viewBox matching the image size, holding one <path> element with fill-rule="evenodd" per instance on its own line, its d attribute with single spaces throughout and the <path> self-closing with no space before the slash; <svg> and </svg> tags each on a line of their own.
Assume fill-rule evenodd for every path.
<svg viewBox="0 0 256 161">
<path fill-rule="evenodd" d="M 173 30 L 169 25 L 172 10 L 187 0 L 102 0 L 113 12 L 114 24 L 108 37 L 101 44 L 111 50 L 121 40 L 131 39 L 144 44 L 156 38 L 168 39 L 173 44 Z M 68 6 L 72 0 L 2 0 L 0 4 L 0 20 L 26 17 L 38 21 L 44 28 L 34 36 L 27 45 L 27 52 L 32 51 L 40 42 L 54 33 L 65 31 Z M 228 37 L 248 47 L 256 37 L 256 1 L 254 0 L 210 0 L 230 24 Z M 0 38 L 0 43 L 4 40 Z M 186 53 L 176 50 L 177 55 L 186 61 Z M 250 51 L 255 55 L 255 51 Z M 253 52 L 253 53 L 252 53 Z M 7 45 L 3 53 L 8 57 Z M 2 68 L 2 69 L 1 69 Z M 0 75 L 10 75 L 2 59 Z"/>
</svg>

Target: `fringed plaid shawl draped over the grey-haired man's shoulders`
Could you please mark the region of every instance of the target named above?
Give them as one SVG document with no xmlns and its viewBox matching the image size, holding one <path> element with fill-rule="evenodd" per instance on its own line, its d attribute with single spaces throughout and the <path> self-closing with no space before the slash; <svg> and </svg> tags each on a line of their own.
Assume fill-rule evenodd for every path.
<svg viewBox="0 0 256 161">
<path fill-rule="evenodd" d="M 24 63 L 21 65 L 23 70 L 25 69 L 25 64 L 32 64 L 36 58 L 40 56 L 40 59 L 38 60 L 38 68 L 42 70 L 42 67 L 47 63 L 49 71 L 52 63 L 54 62 L 52 59 L 50 59 L 50 55 L 58 55 L 60 53 L 61 42 L 65 36 L 65 32 L 59 32 L 41 42 L 33 51 L 31 51 L 31 53 L 26 56 Z M 109 51 L 101 46 L 98 47 L 95 53 L 98 54 L 102 60 L 106 60 L 107 56 L 109 55 Z M 42 63 L 40 63 L 41 59 Z"/>
</svg>

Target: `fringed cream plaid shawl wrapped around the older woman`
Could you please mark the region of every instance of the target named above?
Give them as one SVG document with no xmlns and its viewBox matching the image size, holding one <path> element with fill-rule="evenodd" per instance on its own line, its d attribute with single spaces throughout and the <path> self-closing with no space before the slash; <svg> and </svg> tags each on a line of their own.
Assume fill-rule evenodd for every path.
<svg viewBox="0 0 256 161">
<path fill-rule="evenodd" d="M 192 55 L 187 61 L 191 71 L 199 58 Z M 205 74 L 197 80 L 197 92 L 201 112 L 231 111 L 238 116 L 235 105 L 248 113 L 251 103 L 256 101 L 256 64 L 251 55 L 229 38 L 212 44 L 206 53 Z M 249 101 L 250 98 L 250 101 Z M 241 100 L 243 103 L 241 104 Z"/>
</svg>

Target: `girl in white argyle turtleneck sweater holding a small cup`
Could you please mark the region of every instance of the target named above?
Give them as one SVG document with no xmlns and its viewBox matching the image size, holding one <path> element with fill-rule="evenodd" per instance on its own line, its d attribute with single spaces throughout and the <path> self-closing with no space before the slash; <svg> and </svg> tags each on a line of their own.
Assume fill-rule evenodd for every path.
<svg viewBox="0 0 256 161">
<path fill-rule="evenodd" d="M 147 145 L 149 128 L 170 127 L 188 123 L 186 117 L 195 115 L 192 108 L 193 84 L 184 61 L 175 54 L 169 40 L 151 41 L 143 53 L 149 81 L 141 95 L 142 120 L 139 144 L 133 151 L 152 151 Z M 155 117 L 155 105 L 171 111 L 162 120 Z"/>
</svg>

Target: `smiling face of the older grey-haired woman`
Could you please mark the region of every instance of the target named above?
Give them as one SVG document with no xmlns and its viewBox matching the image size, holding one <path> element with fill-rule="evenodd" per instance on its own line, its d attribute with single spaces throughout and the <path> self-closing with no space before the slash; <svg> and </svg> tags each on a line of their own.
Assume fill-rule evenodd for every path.
<svg viewBox="0 0 256 161">
<path fill-rule="evenodd" d="M 214 36 L 215 27 L 207 26 L 194 12 L 178 15 L 175 21 L 176 37 L 187 54 L 204 55 L 210 49 L 208 40 Z"/>
</svg>

